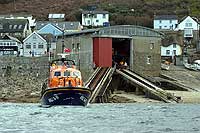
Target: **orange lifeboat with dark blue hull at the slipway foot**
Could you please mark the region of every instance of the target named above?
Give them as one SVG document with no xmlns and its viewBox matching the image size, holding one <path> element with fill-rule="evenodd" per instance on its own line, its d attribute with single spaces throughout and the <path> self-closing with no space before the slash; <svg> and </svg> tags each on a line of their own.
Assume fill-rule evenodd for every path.
<svg viewBox="0 0 200 133">
<path fill-rule="evenodd" d="M 56 59 L 50 63 L 48 82 L 41 91 L 42 105 L 86 106 L 91 90 L 84 87 L 81 72 L 73 60 Z"/>
</svg>

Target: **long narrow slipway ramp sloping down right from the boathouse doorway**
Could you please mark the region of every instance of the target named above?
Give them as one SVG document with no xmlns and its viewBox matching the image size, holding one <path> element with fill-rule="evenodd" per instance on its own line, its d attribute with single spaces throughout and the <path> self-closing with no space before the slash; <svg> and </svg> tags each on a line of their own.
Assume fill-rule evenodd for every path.
<svg viewBox="0 0 200 133">
<path fill-rule="evenodd" d="M 122 69 L 116 70 L 116 72 L 120 74 L 125 80 L 128 80 L 134 86 L 141 89 L 147 97 L 156 97 L 167 103 L 177 103 L 180 101 L 180 98 L 177 98 L 171 93 L 166 92 L 165 90 L 159 88 L 150 81 L 130 70 Z"/>
</svg>

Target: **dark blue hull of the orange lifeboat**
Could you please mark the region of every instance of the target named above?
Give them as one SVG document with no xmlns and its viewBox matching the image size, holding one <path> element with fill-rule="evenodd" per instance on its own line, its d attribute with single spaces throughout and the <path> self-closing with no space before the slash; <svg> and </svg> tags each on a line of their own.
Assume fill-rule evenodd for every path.
<svg viewBox="0 0 200 133">
<path fill-rule="evenodd" d="M 87 88 L 61 87 L 46 89 L 41 98 L 42 105 L 86 106 L 91 96 Z"/>
</svg>

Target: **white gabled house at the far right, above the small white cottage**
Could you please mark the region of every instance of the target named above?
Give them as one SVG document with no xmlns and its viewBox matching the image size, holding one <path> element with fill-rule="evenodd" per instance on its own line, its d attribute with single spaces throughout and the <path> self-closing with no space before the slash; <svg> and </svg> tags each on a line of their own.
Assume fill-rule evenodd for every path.
<svg viewBox="0 0 200 133">
<path fill-rule="evenodd" d="M 176 31 L 182 30 L 184 31 L 184 37 L 193 37 L 193 31 L 198 31 L 199 30 L 199 24 L 197 22 L 198 20 L 195 17 L 190 17 L 187 16 L 183 21 L 181 21 L 177 28 L 175 29 Z"/>
</svg>

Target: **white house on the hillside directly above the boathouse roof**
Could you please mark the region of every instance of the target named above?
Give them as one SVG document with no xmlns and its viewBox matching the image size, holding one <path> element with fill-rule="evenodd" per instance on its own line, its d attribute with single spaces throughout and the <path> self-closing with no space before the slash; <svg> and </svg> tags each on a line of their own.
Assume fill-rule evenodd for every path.
<svg viewBox="0 0 200 133">
<path fill-rule="evenodd" d="M 108 26 L 109 13 L 107 11 L 83 11 L 83 26 Z"/>
</svg>

